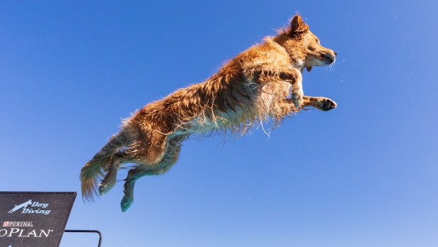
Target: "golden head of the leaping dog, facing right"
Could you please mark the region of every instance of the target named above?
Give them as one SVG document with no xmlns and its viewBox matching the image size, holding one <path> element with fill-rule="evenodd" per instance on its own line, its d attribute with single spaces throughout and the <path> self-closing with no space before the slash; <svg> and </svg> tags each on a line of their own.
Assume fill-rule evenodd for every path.
<svg viewBox="0 0 438 247">
<path fill-rule="evenodd" d="M 312 66 L 325 66 L 336 60 L 336 52 L 322 47 L 318 37 L 310 32 L 309 25 L 304 24 L 299 15 L 292 18 L 290 27 L 280 32 L 275 41 L 285 47 L 293 63 L 307 68 L 307 71 Z"/>
</svg>

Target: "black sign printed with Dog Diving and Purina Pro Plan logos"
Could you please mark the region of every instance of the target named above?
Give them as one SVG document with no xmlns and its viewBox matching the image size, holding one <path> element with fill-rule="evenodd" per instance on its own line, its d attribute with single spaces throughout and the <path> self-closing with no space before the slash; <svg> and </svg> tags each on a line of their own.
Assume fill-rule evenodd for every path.
<svg viewBox="0 0 438 247">
<path fill-rule="evenodd" d="M 0 192 L 0 247 L 58 247 L 76 192 Z"/>
</svg>

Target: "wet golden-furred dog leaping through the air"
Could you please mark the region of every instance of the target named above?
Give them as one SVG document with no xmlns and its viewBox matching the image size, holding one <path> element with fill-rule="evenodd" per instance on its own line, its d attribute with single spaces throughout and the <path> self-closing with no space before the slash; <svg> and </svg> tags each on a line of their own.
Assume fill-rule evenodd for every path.
<svg viewBox="0 0 438 247">
<path fill-rule="evenodd" d="M 270 119 L 278 126 L 303 107 L 336 108 L 333 100 L 304 96 L 302 90 L 304 68 L 310 71 L 335 60 L 336 52 L 322 47 L 301 16 L 294 16 L 278 35 L 238 54 L 208 80 L 147 104 L 125 119 L 119 133 L 81 169 L 83 198 L 93 200 L 97 188 L 105 195 L 117 181 L 117 170 L 134 163 L 124 183 L 125 212 L 134 202 L 137 179 L 165 174 L 189 135 L 242 135 Z"/>
</svg>

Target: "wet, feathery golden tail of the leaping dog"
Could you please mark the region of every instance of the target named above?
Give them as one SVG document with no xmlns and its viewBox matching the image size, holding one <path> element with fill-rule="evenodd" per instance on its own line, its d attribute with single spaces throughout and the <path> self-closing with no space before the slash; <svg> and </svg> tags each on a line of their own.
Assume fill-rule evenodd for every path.
<svg viewBox="0 0 438 247">
<path fill-rule="evenodd" d="M 102 150 L 97 152 L 93 159 L 85 164 L 81 169 L 81 189 L 82 198 L 88 201 L 93 201 L 97 195 L 98 182 L 103 177 L 103 171 L 110 164 L 112 155 L 114 155 L 120 147 L 126 145 L 126 138 L 122 131 L 117 135 L 112 135 L 109 142 L 102 147 Z"/>
</svg>

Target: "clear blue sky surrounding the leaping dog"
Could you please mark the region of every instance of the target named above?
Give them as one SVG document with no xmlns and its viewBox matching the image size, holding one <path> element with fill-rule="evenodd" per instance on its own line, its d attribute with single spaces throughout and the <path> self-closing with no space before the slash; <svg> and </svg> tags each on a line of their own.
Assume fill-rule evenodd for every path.
<svg viewBox="0 0 438 247">
<path fill-rule="evenodd" d="M 211 76 L 300 13 L 338 52 L 304 72 L 331 97 L 268 137 L 188 140 L 68 229 L 102 246 L 437 246 L 436 1 L 1 1 L 1 191 L 80 191 L 122 118 Z M 170 72 L 172 71 L 172 72 Z M 124 175 L 125 171 L 121 174 Z M 122 176 L 121 178 L 124 178 Z M 64 235 L 61 246 L 94 246 Z"/>
</svg>

